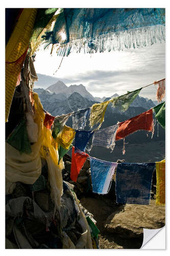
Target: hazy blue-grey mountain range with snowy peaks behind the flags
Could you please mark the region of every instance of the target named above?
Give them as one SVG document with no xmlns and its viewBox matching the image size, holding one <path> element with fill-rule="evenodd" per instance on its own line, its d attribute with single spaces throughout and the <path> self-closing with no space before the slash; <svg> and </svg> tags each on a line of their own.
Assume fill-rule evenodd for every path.
<svg viewBox="0 0 170 256">
<path fill-rule="evenodd" d="M 42 88 L 35 89 L 34 92 L 38 93 L 41 103 L 43 105 L 44 110 L 51 113 L 53 116 L 67 114 L 73 111 L 89 108 L 94 103 L 102 102 L 109 100 L 112 97 L 118 96 L 118 94 L 114 94 L 109 98 L 103 97 L 95 98 L 93 97 L 86 88 L 80 84 L 76 86 L 76 84 L 67 87 L 62 81 L 57 81 L 56 83 L 52 84 L 46 88 L 46 90 Z M 158 103 L 157 103 L 158 104 Z M 151 99 L 143 98 L 137 96 L 133 103 L 130 105 L 129 109 L 124 113 L 120 112 L 117 108 L 113 108 L 111 103 L 109 103 L 106 113 L 105 113 L 105 120 L 102 123 L 101 129 L 114 125 L 119 122 L 123 122 L 131 117 L 139 115 L 155 106 L 154 102 Z M 89 131 L 89 116 L 87 117 L 86 127 L 85 130 Z M 70 117 L 66 123 L 66 125 L 72 127 L 72 118 Z M 158 135 L 159 132 L 159 136 Z M 131 144 L 138 144 L 141 145 L 143 143 L 148 142 L 158 142 L 165 140 L 165 130 L 158 124 L 155 125 L 155 133 L 153 138 L 151 139 L 151 135 L 147 136 L 147 131 L 138 131 L 126 138 L 126 143 L 129 145 Z M 120 151 L 123 147 L 123 141 L 119 140 L 116 142 L 116 146 L 119 148 Z M 101 153 L 102 152 L 102 153 Z M 131 151 L 133 154 L 133 150 Z M 113 160 L 113 155 L 109 153 L 109 150 L 106 148 L 94 147 L 90 152 L 91 156 L 98 158 L 98 156 L 102 154 L 103 159 L 107 159 L 108 161 Z M 147 148 L 146 148 L 147 154 Z M 148 151 L 148 154 L 149 151 Z M 161 150 L 160 154 L 164 154 Z M 140 155 L 140 152 L 139 152 Z M 154 155 L 153 155 L 154 156 Z M 131 161 L 130 158 L 127 159 Z"/>
</svg>

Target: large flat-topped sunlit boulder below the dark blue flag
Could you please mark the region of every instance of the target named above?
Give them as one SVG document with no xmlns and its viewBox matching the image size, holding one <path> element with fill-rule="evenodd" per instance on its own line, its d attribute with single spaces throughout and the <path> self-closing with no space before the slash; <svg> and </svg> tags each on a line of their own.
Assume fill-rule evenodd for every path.
<svg viewBox="0 0 170 256">
<path fill-rule="evenodd" d="M 143 236 L 143 228 L 157 229 L 165 225 L 165 207 L 156 206 L 155 200 L 150 205 L 127 204 L 122 211 L 120 207 L 107 218 L 105 231 L 122 238 L 137 238 Z"/>
</svg>

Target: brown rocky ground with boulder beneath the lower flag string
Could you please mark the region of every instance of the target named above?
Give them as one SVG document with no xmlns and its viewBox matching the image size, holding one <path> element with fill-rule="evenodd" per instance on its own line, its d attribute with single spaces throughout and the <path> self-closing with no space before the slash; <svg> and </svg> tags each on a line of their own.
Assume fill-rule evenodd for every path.
<svg viewBox="0 0 170 256">
<path fill-rule="evenodd" d="M 89 160 L 86 160 L 77 183 L 70 180 L 71 159 L 68 155 L 64 162 L 63 179 L 74 185 L 80 203 L 97 221 L 101 249 L 138 249 L 143 242 L 143 228 L 157 229 L 165 225 L 165 207 L 155 205 L 155 172 L 150 205 L 120 205 L 116 203 L 114 180 L 107 195 L 92 193 Z"/>
</svg>

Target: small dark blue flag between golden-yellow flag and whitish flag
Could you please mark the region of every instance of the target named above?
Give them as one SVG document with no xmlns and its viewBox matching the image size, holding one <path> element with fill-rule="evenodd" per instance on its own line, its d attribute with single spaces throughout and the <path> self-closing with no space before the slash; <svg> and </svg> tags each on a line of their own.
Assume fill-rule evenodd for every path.
<svg viewBox="0 0 170 256">
<path fill-rule="evenodd" d="M 76 131 L 75 136 L 75 152 L 78 150 L 85 151 L 87 142 L 93 135 L 93 132 L 91 131 Z"/>
</svg>

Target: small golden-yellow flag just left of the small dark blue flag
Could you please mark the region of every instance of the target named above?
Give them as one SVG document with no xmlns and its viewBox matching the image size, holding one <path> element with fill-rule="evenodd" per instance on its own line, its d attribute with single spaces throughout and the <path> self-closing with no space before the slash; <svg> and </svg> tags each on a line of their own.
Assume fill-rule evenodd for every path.
<svg viewBox="0 0 170 256">
<path fill-rule="evenodd" d="M 58 134 L 56 138 L 56 142 L 59 143 L 62 147 L 64 147 L 66 150 L 71 145 L 71 142 L 75 138 L 75 130 L 71 127 L 64 125 L 63 130 Z"/>
</svg>

